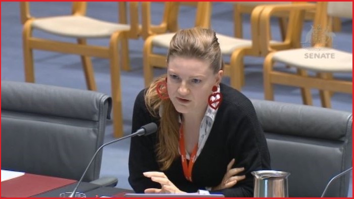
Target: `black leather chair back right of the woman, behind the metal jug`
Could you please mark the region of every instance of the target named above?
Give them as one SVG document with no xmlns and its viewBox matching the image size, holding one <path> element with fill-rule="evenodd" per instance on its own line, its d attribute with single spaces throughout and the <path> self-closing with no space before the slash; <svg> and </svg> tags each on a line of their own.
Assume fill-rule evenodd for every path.
<svg viewBox="0 0 354 199">
<path fill-rule="evenodd" d="M 290 172 L 290 197 L 320 197 L 328 181 L 351 167 L 352 114 L 332 109 L 252 100 L 267 138 L 273 170 Z M 349 174 L 326 197 L 347 197 Z"/>
</svg>

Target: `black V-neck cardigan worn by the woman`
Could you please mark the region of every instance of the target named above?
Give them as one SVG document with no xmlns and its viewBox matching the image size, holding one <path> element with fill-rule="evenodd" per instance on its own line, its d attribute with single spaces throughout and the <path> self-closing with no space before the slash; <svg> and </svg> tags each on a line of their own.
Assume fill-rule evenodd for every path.
<svg viewBox="0 0 354 199">
<path fill-rule="evenodd" d="M 145 106 L 144 91 L 138 94 L 135 101 L 132 132 L 150 122 L 159 125 L 159 118 L 152 117 Z M 194 164 L 193 182 L 186 180 L 181 158 L 174 160 L 164 173 L 180 190 L 196 192 L 198 189 L 218 185 L 226 173 L 228 163 L 235 158 L 233 168 L 244 167 L 240 175 L 246 174 L 246 179 L 237 182 L 232 188 L 211 192 L 222 193 L 226 197 L 251 197 L 254 186 L 251 171 L 270 169 L 267 142 L 249 99 L 225 84 L 220 84 L 220 92 L 223 94 L 223 102 Z M 156 162 L 156 141 L 156 133 L 131 138 L 129 183 L 138 193 L 143 193 L 146 188 L 161 188 L 160 184 L 143 176 L 146 171 L 160 171 Z"/>
</svg>

